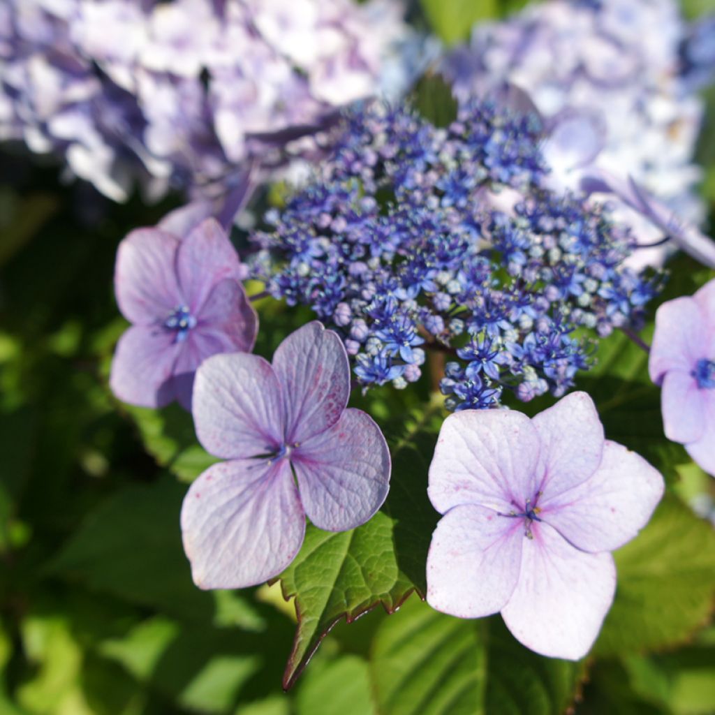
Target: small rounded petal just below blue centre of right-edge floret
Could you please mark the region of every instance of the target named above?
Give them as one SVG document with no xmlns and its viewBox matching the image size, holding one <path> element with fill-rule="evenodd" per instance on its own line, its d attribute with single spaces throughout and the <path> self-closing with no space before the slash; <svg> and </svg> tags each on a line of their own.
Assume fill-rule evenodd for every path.
<svg viewBox="0 0 715 715">
<path fill-rule="evenodd" d="M 704 390 L 693 375 L 671 370 L 666 373 L 661 392 L 661 411 L 666 437 L 686 444 L 699 440 L 705 430 Z"/>
</svg>

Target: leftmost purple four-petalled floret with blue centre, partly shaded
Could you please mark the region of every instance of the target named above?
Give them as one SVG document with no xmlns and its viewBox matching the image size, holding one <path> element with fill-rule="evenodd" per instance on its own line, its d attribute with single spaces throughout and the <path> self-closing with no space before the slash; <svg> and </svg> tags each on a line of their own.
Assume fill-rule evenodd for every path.
<svg viewBox="0 0 715 715">
<path fill-rule="evenodd" d="M 119 310 L 132 322 L 114 353 L 114 394 L 132 405 L 179 400 L 190 409 L 202 360 L 252 350 L 258 320 L 242 277 L 238 255 L 213 219 L 196 224 L 174 214 L 165 227 L 132 231 L 114 270 Z"/>
</svg>

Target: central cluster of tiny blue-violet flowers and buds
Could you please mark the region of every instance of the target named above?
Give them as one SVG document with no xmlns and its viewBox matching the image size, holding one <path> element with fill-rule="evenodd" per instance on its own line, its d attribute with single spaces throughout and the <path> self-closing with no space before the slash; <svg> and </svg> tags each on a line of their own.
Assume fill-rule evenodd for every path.
<svg viewBox="0 0 715 715">
<path fill-rule="evenodd" d="M 252 271 L 340 332 L 364 386 L 453 354 L 450 409 L 562 395 L 589 365 L 584 329 L 636 324 L 656 280 L 623 267 L 631 237 L 601 207 L 548 189 L 533 115 L 468 102 L 445 129 L 410 109 L 356 107 L 295 193 Z"/>
</svg>

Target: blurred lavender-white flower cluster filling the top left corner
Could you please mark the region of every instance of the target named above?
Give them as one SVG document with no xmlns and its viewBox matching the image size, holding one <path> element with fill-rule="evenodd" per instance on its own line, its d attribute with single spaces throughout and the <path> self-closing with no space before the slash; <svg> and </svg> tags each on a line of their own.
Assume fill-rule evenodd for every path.
<svg viewBox="0 0 715 715">
<path fill-rule="evenodd" d="M 137 180 L 223 194 L 383 74 L 406 81 L 401 15 L 393 0 L 9 0 L 0 140 L 59 154 L 117 201 Z"/>
</svg>

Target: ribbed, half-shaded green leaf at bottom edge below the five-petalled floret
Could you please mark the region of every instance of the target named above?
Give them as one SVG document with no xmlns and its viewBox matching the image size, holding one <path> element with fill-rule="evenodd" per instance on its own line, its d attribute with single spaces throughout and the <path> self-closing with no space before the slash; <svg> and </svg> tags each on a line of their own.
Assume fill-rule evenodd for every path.
<svg viewBox="0 0 715 715">
<path fill-rule="evenodd" d="M 553 715 L 584 666 L 533 654 L 501 618 L 460 620 L 410 598 L 378 628 L 370 674 L 384 715 Z"/>
</svg>

